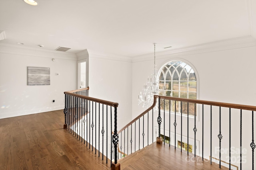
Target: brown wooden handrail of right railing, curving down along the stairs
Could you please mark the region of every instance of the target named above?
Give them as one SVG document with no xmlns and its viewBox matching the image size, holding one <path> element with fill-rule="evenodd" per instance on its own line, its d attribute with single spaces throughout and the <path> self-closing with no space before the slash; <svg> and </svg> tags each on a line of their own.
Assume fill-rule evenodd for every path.
<svg viewBox="0 0 256 170">
<path fill-rule="evenodd" d="M 132 125 L 136 120 L 138 120 L 140 117 L 142 117 L 144 114 L 148 113 L 151 109 L 154 108 L 156 105 L 156 99 L 167 99 L 167 100 L 176 100 L 180 102 L 188 102 L 188 103 L 196 103 L 196 104 L 205 104 L 205 105 L 212 105 L 212 106 L 220 106 L 220 107 L 230 107 L 235 109 L 242 109 L 242 110 L 250 110 L 250 111 L 256 111 L 256 106 L 249 106 L 249 105 L 242 105 L 242 104 L 230 104 L 230 103 L 222 103 L 222 102 L 212 102 L 212 101 L 206 101 L 206 100 L 196 100 L 196 99 L 187 99 L 187 98 L 175 98 L 170 96 L 160 96 L 160 95 L 154 95 L 154 102 L 152 106 L 150 106 L 148 109 L 146 109 L 143 113 L 138 115 L 135 119 L 130 121 L 127 125 L 125 125 L 121 130 L 118 131 L 118 134 L 126 129 L 128 126 Z"/>
</svg>

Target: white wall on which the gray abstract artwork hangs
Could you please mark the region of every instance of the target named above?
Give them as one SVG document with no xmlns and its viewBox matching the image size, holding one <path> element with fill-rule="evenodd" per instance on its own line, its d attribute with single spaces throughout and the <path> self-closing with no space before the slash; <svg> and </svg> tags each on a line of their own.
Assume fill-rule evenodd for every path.
<svg viewBox="0 0 256 170">
<path fill-rule="evenodd" d="M 63 109 L 64 92 L 76 89 L 76 60 L 63 52 L 0 45 L 0 119 Z M 28 66 L 50 67 L 50 85 L 28 86 Z"/>
</svg>

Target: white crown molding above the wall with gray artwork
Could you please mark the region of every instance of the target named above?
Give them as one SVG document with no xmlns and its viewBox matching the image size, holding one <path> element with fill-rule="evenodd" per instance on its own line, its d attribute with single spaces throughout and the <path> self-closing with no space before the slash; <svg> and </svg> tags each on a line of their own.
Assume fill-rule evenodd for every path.
<svg viewBox="0 0 256 170">
<path fill-rule="evenodd" d="M 0 43 L 0 53 L 77 60 L 76 55 L 72 53 L 64 53 L 62 51 L 51 51 L 45 49 L 34 49 L 29 47 L 20 47 L 18 45 L 9 45 L 4 43 Z"/>
</svg>

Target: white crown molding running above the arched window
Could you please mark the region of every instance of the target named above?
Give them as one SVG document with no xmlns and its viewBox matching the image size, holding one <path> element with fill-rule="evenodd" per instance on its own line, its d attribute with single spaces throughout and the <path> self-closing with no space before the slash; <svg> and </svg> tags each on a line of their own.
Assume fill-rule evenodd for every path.
<svg viewBox="0 0 256 170">
<path fill-rule="evenodd" d="M 256 39 L 252 36 L 238 37 L 234 39 L 225 39 L 214 41 L 180 49 L 172 49 L 168 51 L 156 52 L 156 59 L 165 59 L 170 57 L 180 57 L 184 55 L 193 55 L 200 53 L 210 53 L 214 51 L 224 51 L 231 49 L 239 49 L 256 46 Z M 152 54 L 140 55 L 132 57 L 132 63 L 154 60 Z"/>
</svg>

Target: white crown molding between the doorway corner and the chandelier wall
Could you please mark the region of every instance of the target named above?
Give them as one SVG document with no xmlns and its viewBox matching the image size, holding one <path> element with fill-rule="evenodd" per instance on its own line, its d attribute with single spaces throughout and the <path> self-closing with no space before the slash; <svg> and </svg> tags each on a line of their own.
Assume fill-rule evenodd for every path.
<svg viewBox="0 0 256 170">
<path fill-rule="evenodd" d="M 90 50 L 90 49 L 87 49 L 87 51 L 89 54 L 89 58 L 132 63 L 132 57 L 109 54 L 109 53 L 102 53 L 102 52 L 98 52 L 98 51 L 94 51 L 94 50 Z"/>
</svg>

